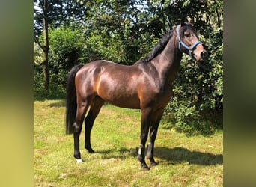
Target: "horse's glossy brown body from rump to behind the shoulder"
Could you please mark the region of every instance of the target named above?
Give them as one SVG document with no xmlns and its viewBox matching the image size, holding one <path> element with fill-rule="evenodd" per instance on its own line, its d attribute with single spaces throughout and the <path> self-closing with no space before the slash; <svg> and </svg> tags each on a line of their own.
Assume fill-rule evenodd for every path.
<svg viewBox="0 0 256 187">
<path fill-rule="evenodd" d="M 124 108 L 140 108 L 138 86 L 140 70 L 111 61 L 93 61 L 76 74 L 76 93 L 82 99 L 100 96 Z"/>
</svg>

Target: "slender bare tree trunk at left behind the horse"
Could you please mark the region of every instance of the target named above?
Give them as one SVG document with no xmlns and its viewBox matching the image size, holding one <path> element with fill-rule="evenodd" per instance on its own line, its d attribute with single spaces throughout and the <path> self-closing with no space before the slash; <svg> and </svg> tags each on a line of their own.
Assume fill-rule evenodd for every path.
<svg viewBox="0 0 256 187">
<path fill-rule="evenodd" d="M 43 1 L 43 79 L 44 88 L 49 89 L 49 69 L 48 69 L 48 52 L 49 52 L 49 36 L 48 36 L 48 2 Z"/>
</svg>

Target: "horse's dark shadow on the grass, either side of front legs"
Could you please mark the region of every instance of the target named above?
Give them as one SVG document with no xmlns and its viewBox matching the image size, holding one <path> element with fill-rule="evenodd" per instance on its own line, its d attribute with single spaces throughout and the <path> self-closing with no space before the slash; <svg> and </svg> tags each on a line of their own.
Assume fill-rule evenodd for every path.
<svg viewBox="0 0 256 187">
<path fill-rule="evenodd" d="M 119 153 L 118 153 L 119 152 Z M 97 153 L 103 154 L 103 159 L 126 159 L 128 156 L 137 156 L 137 148 L 127 149 L 109 149 L 99 150 Z M 171 165 L 179 163 L 187 163 L 194 165 L 223 165 L 223 155 L 214 155 L 212 153 L 202 153 L 198 151 L 190 151 L 183 147 L 155 147 L 154 154 L 156 158 L 167 161 Z M 161 163 L 162 161 L 160 161 Z"/>
</svg>

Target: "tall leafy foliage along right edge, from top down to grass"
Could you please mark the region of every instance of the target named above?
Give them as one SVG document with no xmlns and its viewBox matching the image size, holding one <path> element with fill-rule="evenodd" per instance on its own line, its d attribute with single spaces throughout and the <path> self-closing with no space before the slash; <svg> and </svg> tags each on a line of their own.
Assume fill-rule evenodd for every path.
<svg viewBox="0 0 256 187">
<path fill-rule="evenodd" d="M 174 114 L 170 118 L 174 126 L 190 135 L 209 135 L 216 127 L 222 128 L 222 1 L 206 5 L 204 4 L 204 8 L 198 13 L 195 12 L 192 19 L 196 20 L 195 29 L 198 30 L 203 43 L 207 43 L 210 56 L 202 64 L 195 64 L 189 57 L 183 57 L 179 75 L 174 82 L 174 98 L 165 110 L 165 114 Z M 197 10 L 194 6 L 192 1 L 183 3 L 183 8 Z"/>
</svg>

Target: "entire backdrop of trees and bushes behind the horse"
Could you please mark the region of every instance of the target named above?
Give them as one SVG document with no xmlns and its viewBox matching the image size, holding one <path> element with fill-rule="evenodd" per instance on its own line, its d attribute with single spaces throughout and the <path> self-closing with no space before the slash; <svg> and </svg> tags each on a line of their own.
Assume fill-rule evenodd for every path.
<svg viewBox="0 0 256 187">
<path fill-rule="evenodd" d="M 34 97 L 64 98 L 75 64 L 133 64 L 181 21 L 194 22 L 210 58 L 184 55 L 164 120 L 189 135 L 222 128 L 223 1 L 34 0 Z"/>
</svg>

